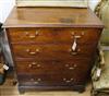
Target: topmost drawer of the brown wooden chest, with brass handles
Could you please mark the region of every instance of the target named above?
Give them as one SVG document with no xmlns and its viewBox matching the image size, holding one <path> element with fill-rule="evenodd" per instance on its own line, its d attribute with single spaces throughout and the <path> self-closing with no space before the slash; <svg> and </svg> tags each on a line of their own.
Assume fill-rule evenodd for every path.
<svg viewBox="0 0 109 96">
<path fill-rule="evenodd" d="M 98 40 L 99 29 L 96 28 L 9 28 L 13 44 L 45 43 L 78 43 L 89 44 Z"/>
</svg>

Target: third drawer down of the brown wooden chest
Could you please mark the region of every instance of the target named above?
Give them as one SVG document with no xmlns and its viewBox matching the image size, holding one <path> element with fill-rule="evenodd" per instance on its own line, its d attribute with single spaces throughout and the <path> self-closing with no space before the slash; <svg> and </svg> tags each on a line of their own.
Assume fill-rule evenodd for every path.
<svg viewBox="0 0 109 96">
<path fill-rule="evenodd" d="M 88 59 L 63 61 L 16 61 L 17 73 L 21 74 L 75 74 L 86 75 L 92 67 Z"/>
</svg>

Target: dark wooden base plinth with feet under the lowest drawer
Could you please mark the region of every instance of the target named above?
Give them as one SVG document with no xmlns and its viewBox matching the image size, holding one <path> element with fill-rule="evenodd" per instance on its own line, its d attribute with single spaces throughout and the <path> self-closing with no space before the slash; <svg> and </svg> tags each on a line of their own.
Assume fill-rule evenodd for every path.
<svg viewBox="0 0 109 96">
<path fill-rule="evenodd" d="M 24 94 L 25 91 L 76 91 L 78 93 L 83 93 L 85 91 L 84 84 L 74 84 L 72 86 L 36 86 L 33 85 L 29 87 L 29 85 L 19 85 L 19 92 L 20 94 Z"/>
</svg>

